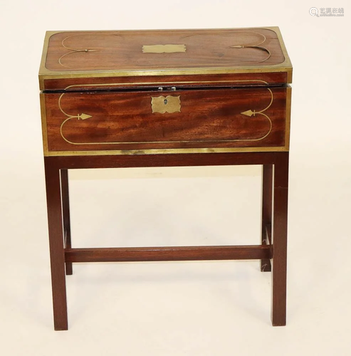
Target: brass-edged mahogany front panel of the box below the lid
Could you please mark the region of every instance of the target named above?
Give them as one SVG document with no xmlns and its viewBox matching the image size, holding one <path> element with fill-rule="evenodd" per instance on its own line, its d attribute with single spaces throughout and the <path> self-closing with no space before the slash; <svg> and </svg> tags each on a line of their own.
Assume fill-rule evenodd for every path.
<svg viewBox="0 0 351 356">
<path fill-rule="evenodd" d="M 285 87 L 44 93 L 41 105 L 46 155 L 288 150 Z"/>
</svg>

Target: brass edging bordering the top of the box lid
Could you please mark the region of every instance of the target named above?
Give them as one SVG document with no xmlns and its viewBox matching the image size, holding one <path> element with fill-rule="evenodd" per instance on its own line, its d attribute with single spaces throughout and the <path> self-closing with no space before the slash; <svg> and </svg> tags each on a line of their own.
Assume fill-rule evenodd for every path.
<svg viewBox="0 0 351 356">
<path fill-rule="evenodd" d="M 235 30 L 244 28 L 218 28 L 218 30 Z M 50 37 L 53 34 L 67 32 L 67 31 L 47 31 L 46 37 L 44 40 L 43 46 L 43 54 L 41 57 L 41 66 L 39 70 L 39 83 L 40 89 L 43 90 L 44 80 L 45 79 L 58 79 L 58 78 L 104 78 L 104 77 L 122 77 L 122 76 L 150 76 L 150 75 L 159 75 L 159 76 L 167 76 L 167 75 L 197 75 L 197 74 L 230 74 L 230 73 L 275 73 L 275 72 L 284 72 L 288 73 L 288 83 L 291 83 L 292 78 L 292 66 L 290 62 L 290 58 L 288 56 L 288 52 L 286 51 L 285 44 L 283 42 L 283 38 L 281 36 L 281 31 L 278 27 L 260 27 L 260 28 L 245 28 L 248 29 L 267 29 L 274 31 L 277 35 L 278 41 L 281 44 L 281 50 L 283 52 L 283 56 L 285 61 L 282 63 L 272 65 L 272 66 L 261 66 L 260 68 L 252 67 L 252 66 L 243 66 L 236 68 L 189 68 L 189 69 L 179 69 L 179 68 L 168 68 L 167 70 L 88 70 L 85 72 L 57 72 L 53 70 L 48 70 L 45 67 L 46 63 L 46 53 L 48 51 L 48 42 Z M 127 30 L 128 31 L 128 30 Z M 143 30 L 144 31 L 144 30 Z M 145 30 L 145 31 L 154 31 L 154 30 Z M 211 30 L 216 31 L 216 30 Z M 74 31 L 70 31 L 74 32 Z"/>
</svg>

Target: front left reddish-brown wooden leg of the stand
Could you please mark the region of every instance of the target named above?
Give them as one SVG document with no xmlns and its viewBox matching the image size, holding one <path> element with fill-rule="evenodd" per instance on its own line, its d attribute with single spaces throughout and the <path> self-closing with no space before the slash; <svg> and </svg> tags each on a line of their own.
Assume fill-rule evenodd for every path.
<svg viewBox="0 0 351 356">
<path fill-rule="evenodd" d="M 68 330 L 60 171 L 45 159 L 48 234 L 55 330 Z"/>
</svg>

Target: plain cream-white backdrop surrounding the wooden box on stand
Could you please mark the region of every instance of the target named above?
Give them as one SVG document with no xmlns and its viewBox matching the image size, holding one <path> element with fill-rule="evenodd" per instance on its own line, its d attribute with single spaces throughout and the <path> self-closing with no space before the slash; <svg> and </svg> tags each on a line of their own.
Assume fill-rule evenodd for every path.
<svg viewBox="0 0 351 356">
<path fill-rule="evenodd" d="M 348 5 L 348 6 L 347 6 Z M 344 17 L 310 16 L 310 7 Z M 350 3 L 0 3 L 2 355 L 350 355 Z M 288 325 L 257 261 L 81 264 L 54 333 L 38 98 L 46 30 L 280 26 L 293 62 Z M 74 246 L 256 244 L 259 167 L 70 174 Z"/>
</svg>

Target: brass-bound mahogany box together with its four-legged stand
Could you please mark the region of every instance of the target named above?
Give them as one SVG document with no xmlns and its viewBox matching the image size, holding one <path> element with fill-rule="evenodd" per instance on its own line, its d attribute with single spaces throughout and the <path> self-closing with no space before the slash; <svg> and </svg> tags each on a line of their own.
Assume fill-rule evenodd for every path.
<svg viewBox="0 0 351 356">
<path fill-rule="evenodd" d="M 278 27 L 48 31 L 39 82 L 56 330 L 72 263 L 258 259 L 285 325 L 292 66 Z M 263 166 L 255 246 L 72 248 L 68 170 Z M 204 224 L 206 222 L 204 221 Z"/>
</svg>

